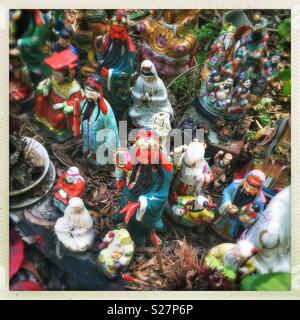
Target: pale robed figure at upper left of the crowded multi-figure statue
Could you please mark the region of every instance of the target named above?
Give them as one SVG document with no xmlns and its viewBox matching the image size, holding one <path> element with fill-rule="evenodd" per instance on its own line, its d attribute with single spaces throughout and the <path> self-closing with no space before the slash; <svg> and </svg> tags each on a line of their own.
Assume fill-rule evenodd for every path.
<svg viewBox="0 0 300 320">
<path fill-rule="evenodd" d="M 235 33 L 236 27 L 231 25 L 213 42 L 208 61 L 210 68 L 216 69 L 231 59 L 235 47 Z"/>
</svg>

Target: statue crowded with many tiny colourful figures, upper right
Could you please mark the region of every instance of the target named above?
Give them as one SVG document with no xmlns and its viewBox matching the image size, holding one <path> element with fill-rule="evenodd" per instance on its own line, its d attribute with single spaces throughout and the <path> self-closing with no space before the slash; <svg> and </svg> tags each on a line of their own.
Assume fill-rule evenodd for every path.
<svg viewBox="0 0 300 320">
<path fill-rule="evenodd" d="M 242 10 L 233 10 L 225 14 L 224 23 L 229 27 L 211 47 L 197 103 L 210 120 L 223 116 L 237 122 L 252 103 L 253 94 L 261 96 L 267 79 L 274 77 L 278 54 L 271 60 L 265 58 L 267 20 L 261 16 L 250 21 Z"/>
</svg>

